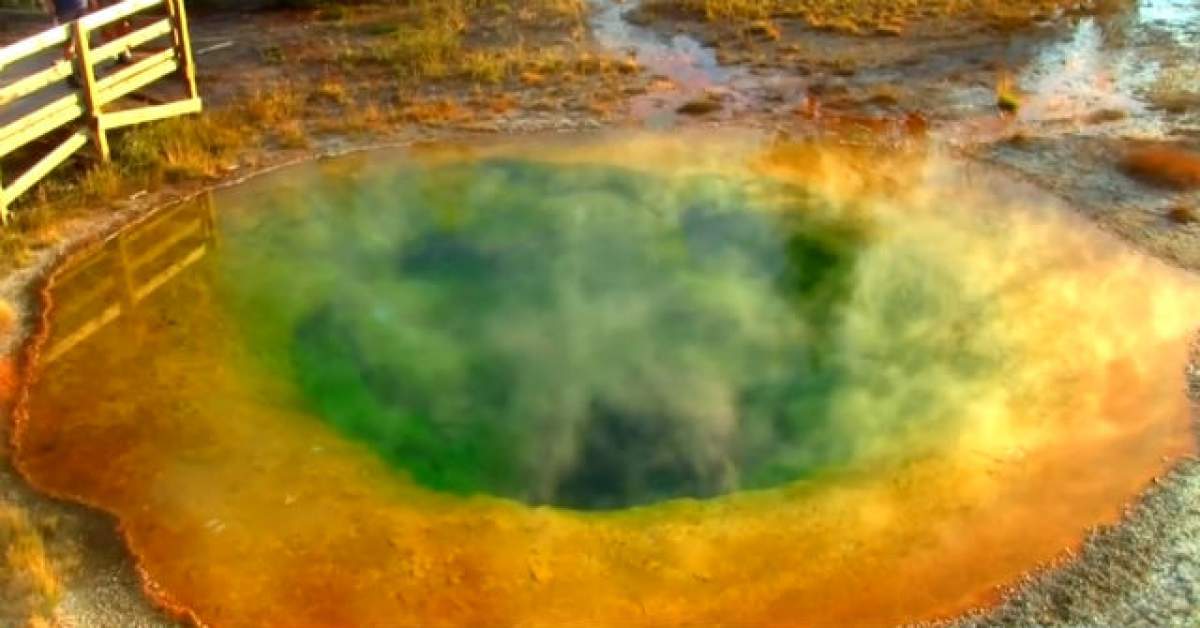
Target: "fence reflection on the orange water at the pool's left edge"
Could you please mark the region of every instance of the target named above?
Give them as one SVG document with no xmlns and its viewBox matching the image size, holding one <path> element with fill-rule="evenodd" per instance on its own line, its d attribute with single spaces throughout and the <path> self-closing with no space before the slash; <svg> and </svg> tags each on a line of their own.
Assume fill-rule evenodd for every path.
<svg viewBox="0 0 1200 628">
<path fill-rule="evenodd" d="M 44 363 L 61 358 L 199 262 L 216 244 L 210 196 L 164 211 L 82 252 L 59 270 Z"/>
</svg>

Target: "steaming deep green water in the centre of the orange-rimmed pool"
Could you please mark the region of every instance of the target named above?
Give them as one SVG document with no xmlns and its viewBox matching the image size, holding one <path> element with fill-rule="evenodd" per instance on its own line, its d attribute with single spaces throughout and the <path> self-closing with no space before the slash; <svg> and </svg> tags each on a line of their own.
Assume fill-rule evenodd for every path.
<svg viewBox="0 0 1200 628">
<path fill-rule="evenodd" d="M 245 203 L 220 274 L 262 366 L 440 491 L 776 486 L 948 432 L 934 379 L 998 364 L 961 279 L 768 180 L 400 159 Z"/>
</svg>

